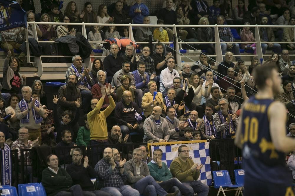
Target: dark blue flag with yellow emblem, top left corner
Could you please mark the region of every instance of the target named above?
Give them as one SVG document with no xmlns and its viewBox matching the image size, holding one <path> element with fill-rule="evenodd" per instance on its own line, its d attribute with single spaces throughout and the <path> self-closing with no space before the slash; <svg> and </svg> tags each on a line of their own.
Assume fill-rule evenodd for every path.
<svg viewBox="0 0 295 196">
<path fill-rule="evenodd" d="M 0 0 L 0 30 L 27 28 L 27 13 L 16 1 Z"/>
</svg>

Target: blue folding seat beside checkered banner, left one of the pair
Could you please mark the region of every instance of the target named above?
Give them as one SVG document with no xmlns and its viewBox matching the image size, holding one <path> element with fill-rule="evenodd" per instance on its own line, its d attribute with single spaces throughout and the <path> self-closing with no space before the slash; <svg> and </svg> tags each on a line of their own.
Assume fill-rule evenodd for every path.
<svg viewBox="0 0 295 196">
<path fill-rule="evenodd" d="M 232 181 L 230 180 L 230 174 L 228 173 L 227 170 L 221 170 L 221 171 L 213 171 L 213 180 L 214 180 L 214 188 L 219 189 L 217 196 L 219 195 L 220 192 L 223 193 L 224 196 L 225 193 L 224 191 L 232 191 L 235 190 L 235 196 L 239 196 L 240 193 L 243 196 L 242 192 L 242 185 L 233 185 Z M 225 188 L 225 189 L 224 189 Z"/>
</svg>

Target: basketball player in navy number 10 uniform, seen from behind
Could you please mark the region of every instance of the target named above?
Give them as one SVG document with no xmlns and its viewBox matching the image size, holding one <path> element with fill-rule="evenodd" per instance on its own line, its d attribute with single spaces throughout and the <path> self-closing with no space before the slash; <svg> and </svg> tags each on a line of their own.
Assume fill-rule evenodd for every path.
<svg viewBox="0 0 295 196">
<path fill-rule="evenodd" d="M 258 93 L 244 103 L 235 145 L 243 150 L 246 196 L 294 195 L 285 153 L 295 149 L 286 137 L 285 105 L 274 101 L 281 79 L 273 64 L 255 69 Z"/>
</svg>

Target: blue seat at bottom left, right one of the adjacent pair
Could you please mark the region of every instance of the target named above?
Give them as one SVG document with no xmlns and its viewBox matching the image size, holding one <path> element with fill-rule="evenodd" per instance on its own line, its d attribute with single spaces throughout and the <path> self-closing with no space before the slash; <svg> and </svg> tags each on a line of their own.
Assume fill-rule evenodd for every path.
<svg viewBox="0 0 295 196">
<path fill-rule="evenodd" d="M 46 195 L 45 189 L 39 183 L 19 184 L 19 196 L 39 196 Z"/>
</svg>

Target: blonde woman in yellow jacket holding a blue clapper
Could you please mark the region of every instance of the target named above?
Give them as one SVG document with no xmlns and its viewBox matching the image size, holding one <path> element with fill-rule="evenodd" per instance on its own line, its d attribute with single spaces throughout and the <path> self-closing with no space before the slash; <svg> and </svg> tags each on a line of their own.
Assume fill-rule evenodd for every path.
<svg viewBox="0 0 295 196">
<path fill-rule="evenodd" d="M 145 117 L 148 117 L 153 112 L 154 106 L 160 106 L 162 108 L 162 112 L 166 112 L 166 105 L 163 102 L 163 95 L 160 92 L 157 92 L 157 83 L 155 81 L 150 81 L 148 83 L 148 89 L 150 92 L 145 93 L 142 97 L 141 107 L 143 109 Z M 157 92 L 155 96 L 155 100 L 153 100 L 154 92 Z"/>
</svg>

